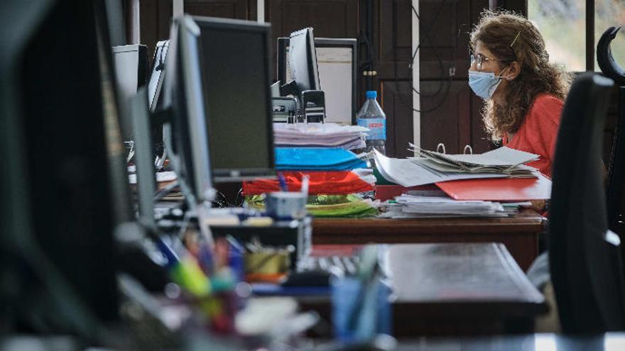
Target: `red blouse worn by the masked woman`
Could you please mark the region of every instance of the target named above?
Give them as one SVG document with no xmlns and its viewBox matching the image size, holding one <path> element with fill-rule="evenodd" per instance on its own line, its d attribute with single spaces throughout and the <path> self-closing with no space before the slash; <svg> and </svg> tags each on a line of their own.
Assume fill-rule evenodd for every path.
<svg viewBox="0 0 625 351">
<path fill-rule="evenodd" d="M 507 133 L 504 134 L 503 143 L 507 147 L 540 155 L 540 160 L 528 163 L 528 166 L 538 168 L 548 177 L 551 177 L 551 162 L 563 106 L 564 103 L 555 96 L 540 94 L 512 140 L 508 139 Z"/>
</svg>

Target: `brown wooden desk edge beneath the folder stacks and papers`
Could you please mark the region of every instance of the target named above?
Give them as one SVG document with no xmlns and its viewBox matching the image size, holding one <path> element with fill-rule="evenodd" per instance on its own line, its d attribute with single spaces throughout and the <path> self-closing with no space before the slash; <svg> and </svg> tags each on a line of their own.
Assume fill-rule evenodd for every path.
<svg viewBox="0 0 625 351">
<path fill-rule="evenodd" d="M 312 244 L 503 243 L 526 270 L 538 255 L 543 221 L 532 210 L 507 218 L 315 218 Z"/>
</svg>

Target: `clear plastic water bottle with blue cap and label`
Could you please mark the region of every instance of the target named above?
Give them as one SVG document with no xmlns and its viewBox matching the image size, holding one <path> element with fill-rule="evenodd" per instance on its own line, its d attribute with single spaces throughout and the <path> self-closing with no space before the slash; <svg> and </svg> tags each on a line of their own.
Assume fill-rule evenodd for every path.
<svg viewBox="0 0 625 351">
<path fill-rule="evenodd" d="M 366 101 L 356 115 L 356 121 L 359 126 L 370 130 L 365 141 L 365 151 L 371 152 L 376 149 L 386 155 L 386 114 L 376 101 L 377 96 L 378 92 L 375 90 L 366 92 Z"/>
</svg>

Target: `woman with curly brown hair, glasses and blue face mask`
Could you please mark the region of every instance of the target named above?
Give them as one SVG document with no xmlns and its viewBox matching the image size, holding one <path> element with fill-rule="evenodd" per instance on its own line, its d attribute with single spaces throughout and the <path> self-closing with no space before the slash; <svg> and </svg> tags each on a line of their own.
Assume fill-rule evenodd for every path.
<svg viewBox="0 0 625 351">
<path fill-rule="evenodd" d="M 470 35 L 469 86 L 486 100 L 487 132 L 508 147 L 540 155 L 528 165 L 550 177 L 570 74 L 549 63 L 543 36 L 521 16 L 485 11 Z"/>
</svg>

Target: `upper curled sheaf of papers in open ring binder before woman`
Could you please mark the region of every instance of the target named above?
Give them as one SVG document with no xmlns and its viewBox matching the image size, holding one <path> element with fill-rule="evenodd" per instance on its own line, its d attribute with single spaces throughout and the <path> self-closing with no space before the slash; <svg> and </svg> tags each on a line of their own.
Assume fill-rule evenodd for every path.
<svg viewBox="0 0 625 351">
<path fill-rule="evenodd" d="M 437 172 L 495 173 L 506 174 L 510 177 L 536 177 L 535 168 L 523 165 L 538 160 L 538 155 L 530 152 L 504 146 L 478 155 L 446 155 L 410 145 L 412 150 L 420 152 L 422 157 L 411 160 Z"/>
</svg>

